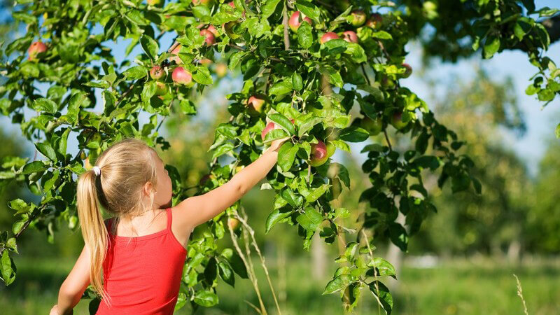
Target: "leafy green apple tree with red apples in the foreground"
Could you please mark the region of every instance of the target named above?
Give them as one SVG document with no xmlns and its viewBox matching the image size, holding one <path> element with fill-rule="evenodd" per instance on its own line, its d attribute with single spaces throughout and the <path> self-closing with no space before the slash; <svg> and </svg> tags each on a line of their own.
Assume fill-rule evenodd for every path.
<svg viewBox="0 0 560 315">
<path fill-rule="evenodd" d="M 45 230 L 50 241 L 57 222 L 76 228 L 76 178 L 114 141 L 137 137 L 167 150 L 163 120 L 196 115 L 193 96 L 224 75 L 221 60 L 244 81 L 228 94 L 231 116 L 216 128 L 211 172 L 197 194 L 231 179 L 270 141 L 289 137 L 261 187 L 276 193 L 266 230 L 289 225 L 307 251 L 315 233 L 329 244 L 354 237 L 335 259 L 341 265 L 323 294 L 339 294 L 351 310 L 367 290 L 389 314 L 393 297 L 382 280 L 396 277 L 395 269 L 373 254 L 374 237 L 407 250 L 409 237 L 435 212 L 423 183 L 427 173 L 454 192 L 481 189 L 472 160 L 461 153 L 464 141 L 402 81 L 412 73 L 405 45 L 419 40 L 427 57 L 451 61 L 524 50 L 538 71 L 526 92 L 548 104 L 560 91 L 560 71 L 545 56 L 557 26 L 548 17 L 556 12 L 537 10 L 533 0 L 17 1 L 13 18 L 27 32 L 2 50 L 0 110 L 44 159 L 2 160 L 0 180 L 25 183 L 41 202 L 9 202 L 16 218 L 1 233 L 1 277 L 6 285 L 14 281 L 10 255 L 27 228 Z M 166 35 L 174 37 L 169 47 L 161 43 Z M 124 39 L 125 57 L 117 62 L 107 43 Z M 141 52 L 130 56 L 134 48 Z M 149 122 L 141 124 L 139 113 L 148 113 Z M 76 155 L 66 150 L 69 137 L 78 141 Z M 393 146 L 395 138 L 407 139 L 409 148 Z M 346 227 L 341 219 L 352 209 L 331 202 L 339 192 L 333 187 L 351 188 L 351 179 L 330 156 L 358 146 L 367 153 L 362 169 L 372 184 L 360 201 L 370 207 Z M 174 202 L 189 197 L 179 172 L 167 169 Z M 399 212 L 406 227 L 395 222 Z M 251 260 L 237 245 L 238 237 L 253 235 L 242 205 L 203 228 L 189 243 L 177 308 L 218 303 L 218 279 L 235 286 L 237 274 L 255 283 Z M 216 246 L 226 230 L 235 248 Z"/>
</svg>

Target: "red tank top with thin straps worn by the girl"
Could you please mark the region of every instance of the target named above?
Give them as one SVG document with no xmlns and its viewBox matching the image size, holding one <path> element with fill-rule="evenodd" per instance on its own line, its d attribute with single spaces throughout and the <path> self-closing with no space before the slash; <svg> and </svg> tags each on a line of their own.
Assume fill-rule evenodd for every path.
<svg viewBox="0 0 560 315">
<path fill-rule="evenodd" d="M 171 208 L 165 212 L 167 228 L 140 237 L 112 235 L 108 220 L 103 278 L 111 306 L 102 300 L 96 314 L 173 314 L 187 251 L 171 230 Z"/>
</svg>

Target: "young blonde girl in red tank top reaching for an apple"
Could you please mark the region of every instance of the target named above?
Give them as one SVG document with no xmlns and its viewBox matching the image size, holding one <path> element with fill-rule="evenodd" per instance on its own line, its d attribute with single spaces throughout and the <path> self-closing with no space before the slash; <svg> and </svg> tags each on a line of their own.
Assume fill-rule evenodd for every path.
<svg viewBox="0 0 560 315">
<path fill-rule="evenodd" d="M 158 153 L 138 139 L 113 144 L 78 179 L 85 245 L 50 314 L 73 314 L 90 283 L 102 295 L 97 314 L 173 314 L 190 232 L 264 178 L 286 139 L 273 141 L 228 183 L 175 207 Z M 104 221 L 99 204 L 113 218 Z"/>
</svg>

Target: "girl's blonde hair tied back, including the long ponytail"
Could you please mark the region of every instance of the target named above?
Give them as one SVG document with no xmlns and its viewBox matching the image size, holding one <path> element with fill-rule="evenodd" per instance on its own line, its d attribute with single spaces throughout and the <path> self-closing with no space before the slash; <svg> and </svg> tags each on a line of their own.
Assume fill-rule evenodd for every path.
<svg viewBox="0 0 560 315">
<path fill-rule="evenodd" d="M 151 209 L 155 190 L 149 196 L 149 204 L 144 204 L 142 190 L 148 181 L 153 188 L 157 184 L 155 156 L 155 150 L 144 141 L 126 138 L 99 155 L 95 162 L 101 170 L 99 175 L 90 169 L 78 179 L 78 218 L 84 243 L 90 252 L 90 282 L 109 305 L 111 301 L 104 290 L 102 277 L 109 234 L 99 206 L 115 217 L 111 225 L 112 235 L 116 235 L 121 218 L 138 216 Z"/>
</svg>

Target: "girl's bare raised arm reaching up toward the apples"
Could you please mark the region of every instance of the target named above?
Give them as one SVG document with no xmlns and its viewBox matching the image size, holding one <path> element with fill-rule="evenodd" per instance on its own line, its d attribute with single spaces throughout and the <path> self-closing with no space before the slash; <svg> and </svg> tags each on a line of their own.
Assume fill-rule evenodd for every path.
<svg viewBox="0 0 560 315">
<path fill-rule="evenodd" d="M 176 208 L 179 209 L 174 212 L 174 221 L 181 221 L 179 225 L 190 231 L 228 209 L 276 165 L 278 150 L 286 139 L 288 138 L 273 141 L 260 158 L 241 169 L 228 183 L 204 195 L 189 197 L 177 204 Z"/>
</svg>

